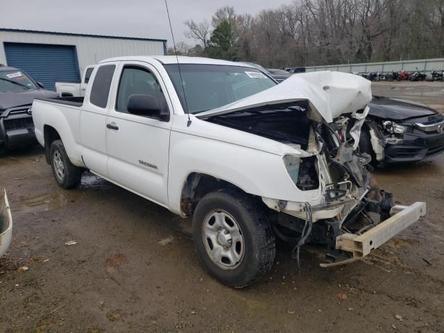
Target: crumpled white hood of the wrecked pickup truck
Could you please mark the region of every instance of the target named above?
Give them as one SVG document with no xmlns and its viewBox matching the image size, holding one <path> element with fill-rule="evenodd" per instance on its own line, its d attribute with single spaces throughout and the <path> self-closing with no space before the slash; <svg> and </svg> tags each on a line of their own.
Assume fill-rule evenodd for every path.
<svg viewBox="0 0 444 333">
<path fill-rule="evenodd" d="M 205 119 L 264 105 L 308 101 L 310 108 L 331 123 L 341 114 L 365 108 L 371 99 L 371 83 L 365 78 L 339 71 L 314 71 L 292 75 L 280 85 L 220 108 L 196 114 L 196 117 Z"/>
</svg>

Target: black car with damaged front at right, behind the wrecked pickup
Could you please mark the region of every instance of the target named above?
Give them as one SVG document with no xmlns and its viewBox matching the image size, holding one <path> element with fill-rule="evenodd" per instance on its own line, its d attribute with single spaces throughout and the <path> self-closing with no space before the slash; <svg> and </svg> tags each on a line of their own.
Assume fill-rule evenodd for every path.
<svg viewBox="0 0 444 333">
<path fill-rule="evenodd" d="M 359 142 L 373 164 L 415 162 L 444 152 L 444 117 L 421 103 L 373 96 Z"/>
</svg>

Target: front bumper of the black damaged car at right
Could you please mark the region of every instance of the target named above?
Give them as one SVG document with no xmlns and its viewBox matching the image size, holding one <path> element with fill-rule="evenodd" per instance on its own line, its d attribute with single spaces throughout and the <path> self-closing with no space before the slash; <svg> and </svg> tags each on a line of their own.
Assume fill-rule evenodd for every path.
<svg viewBox="0 0 444 333">
<path fill-rule="evenodd" d="M 386 162 L 415 162 L 444 152 L 444 132 L 410 134 L 398 142 L 386 140 Z"/>
</svg>

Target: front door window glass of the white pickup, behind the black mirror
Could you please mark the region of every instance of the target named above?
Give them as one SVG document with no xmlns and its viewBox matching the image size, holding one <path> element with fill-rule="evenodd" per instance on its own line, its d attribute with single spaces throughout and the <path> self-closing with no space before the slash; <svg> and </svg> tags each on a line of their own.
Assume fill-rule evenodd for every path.
<svg viewBox="0 0 444 333">
<path fill-rule="evenodd" d="M 117 91 L 116 110 L 128 112 L 128 99 L 134 94 L 151 95 L 159 105 L 164 103 L 162 89 L 151 71 L 139 67 L 124 67 Z"/>
</svg>

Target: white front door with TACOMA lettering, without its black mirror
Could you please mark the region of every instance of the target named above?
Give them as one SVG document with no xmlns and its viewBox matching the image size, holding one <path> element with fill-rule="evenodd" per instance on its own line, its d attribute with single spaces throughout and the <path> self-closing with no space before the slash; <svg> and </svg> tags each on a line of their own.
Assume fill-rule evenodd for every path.
<svg viewBox="0 0 444 333">
<path fill-rule="evenodd" d="M 154 67 L 146 62 L 121 62 L 117 95 L 110 108 L 106 137 L 109 178 L 167 206 L 172 117 L 162 121 L 128 113 L 129 97 L 143 94 L 153 96 L 172 114 L 171 102 L 164 92 L 166 88 Z"/>
</svg>

